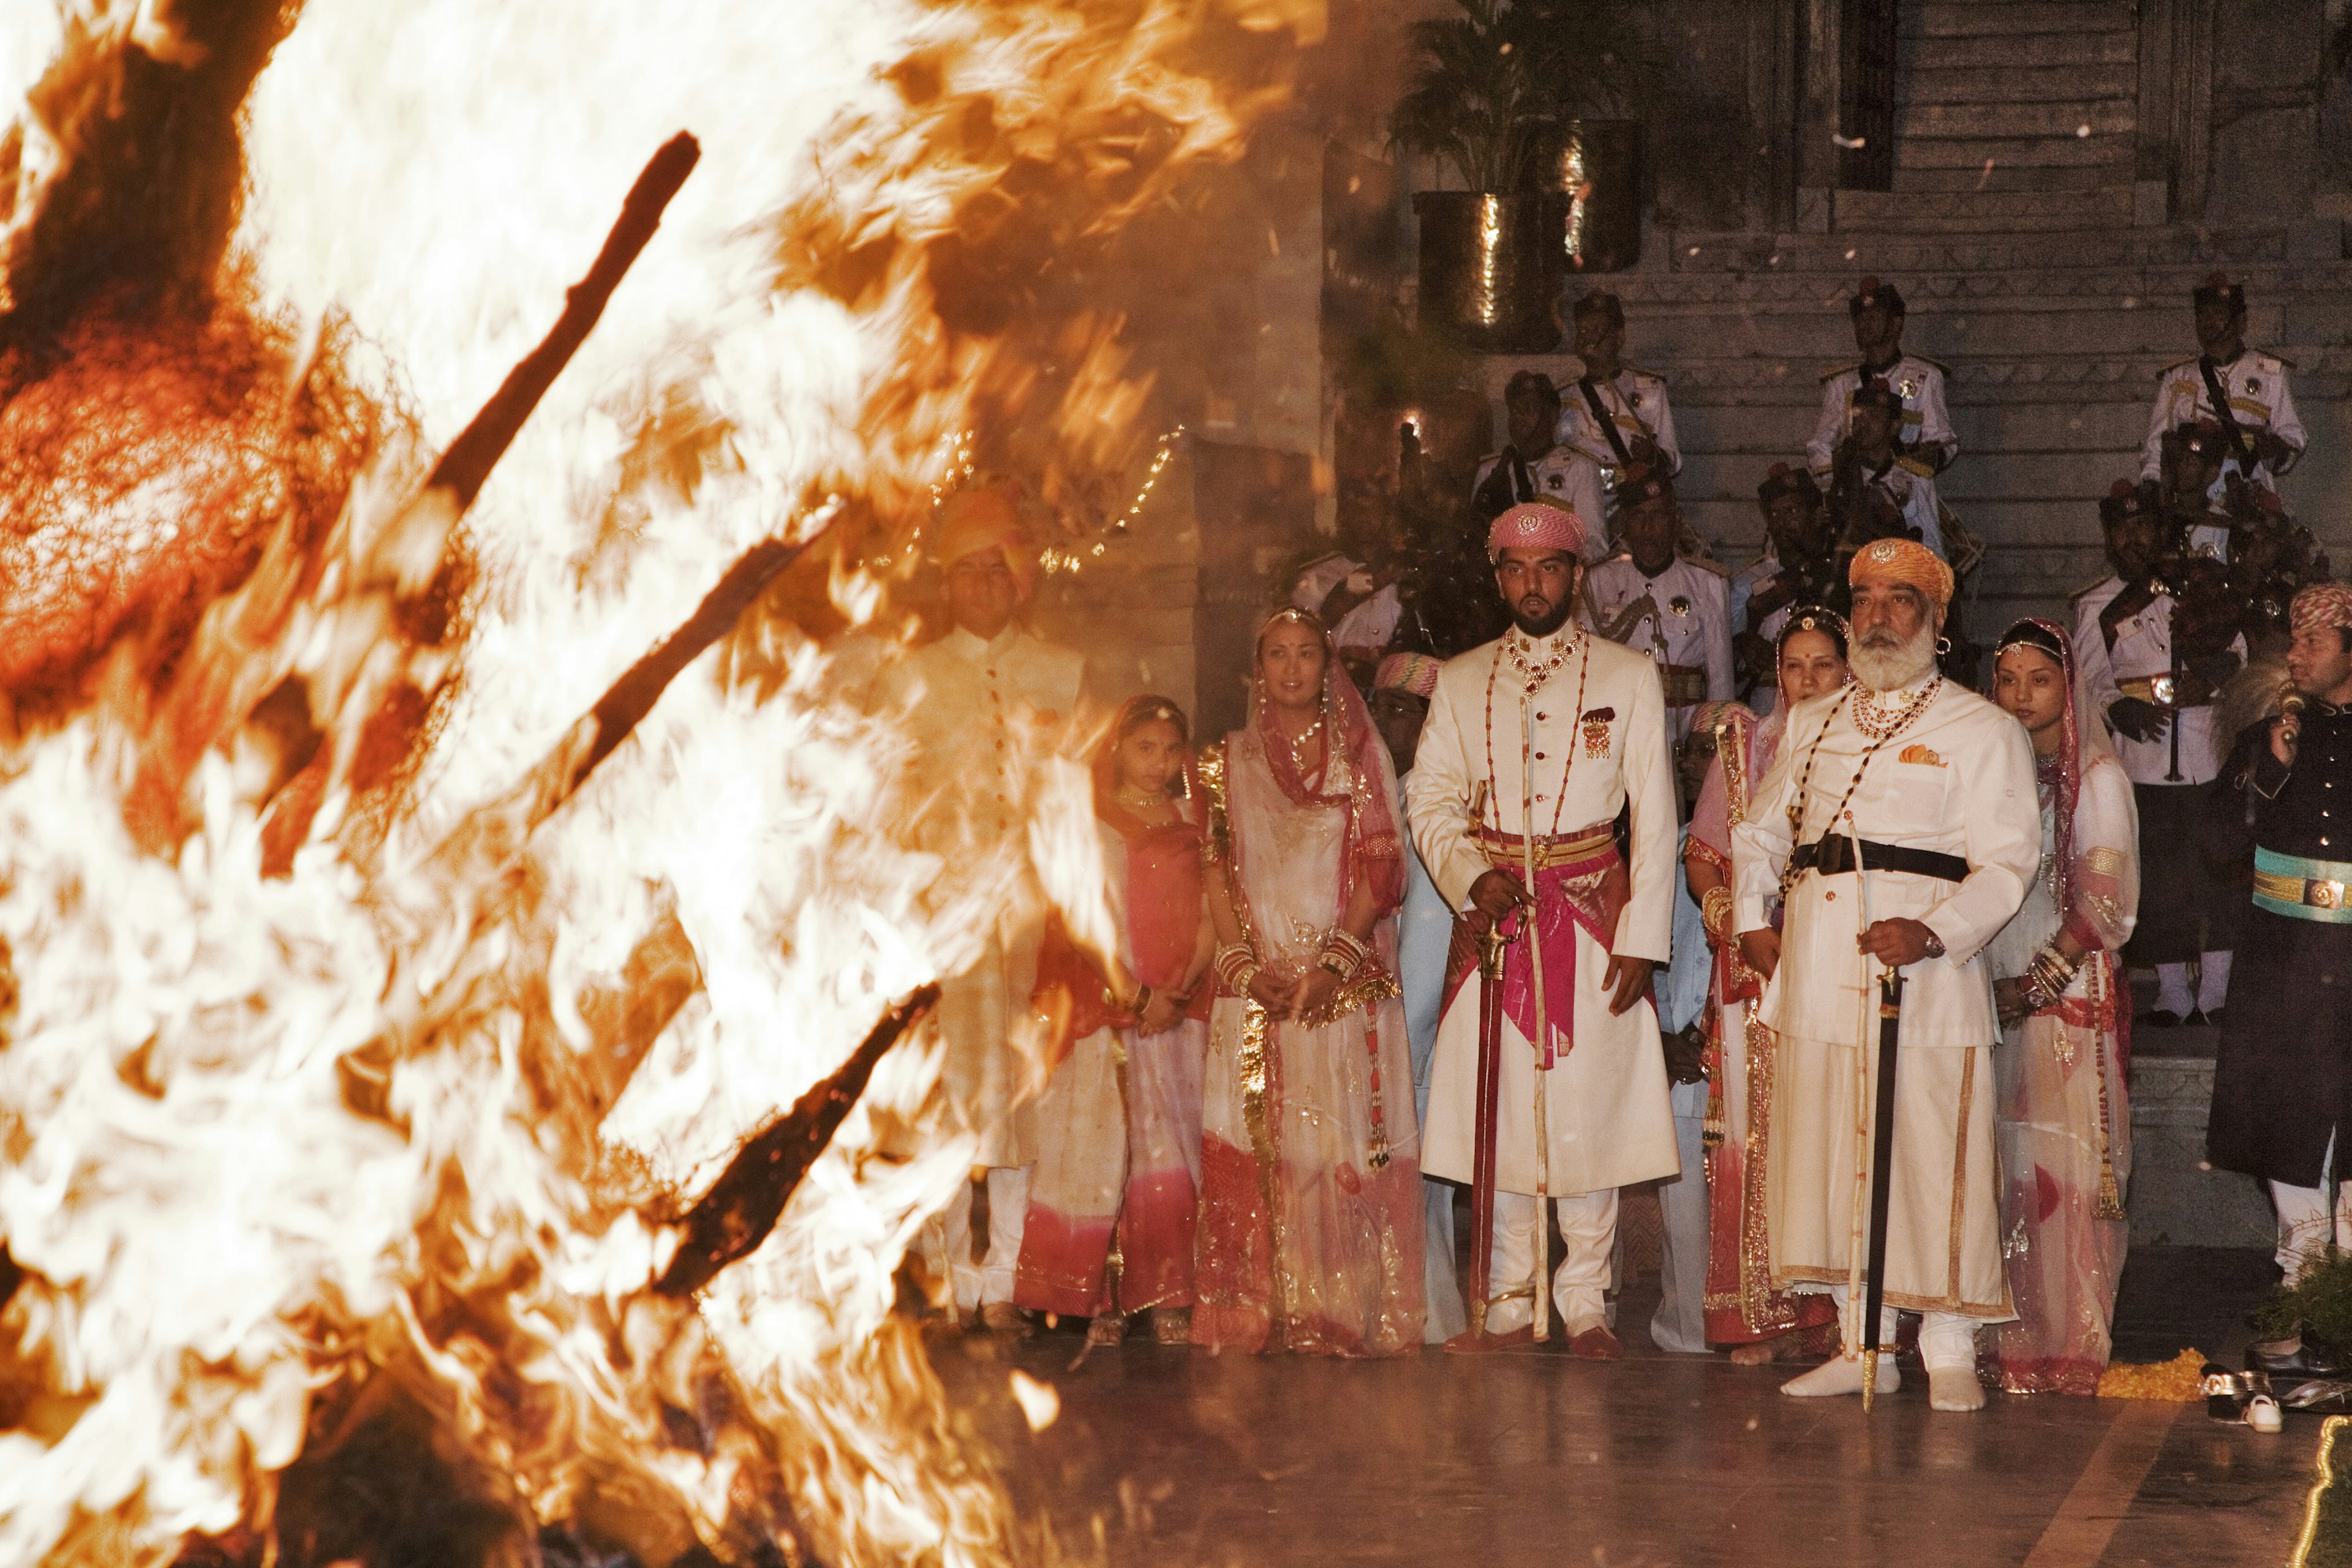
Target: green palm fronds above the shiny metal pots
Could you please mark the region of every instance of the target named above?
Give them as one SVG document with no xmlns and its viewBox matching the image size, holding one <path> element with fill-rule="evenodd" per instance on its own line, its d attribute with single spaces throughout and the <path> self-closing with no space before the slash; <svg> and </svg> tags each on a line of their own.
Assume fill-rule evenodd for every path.
<svg viewBox="0 0 2352 1568">
<path fill-rule="evenodd" d="M 1543 129 L 1569 115 L 1623 115 L 1649 89 L 1609 0 L 1456 0 L 1461 14 L 1414 24 L 1421 71 L 1388 134 L 1461 174 L 1470 190 L 1522 190 Z"/>
</svg>

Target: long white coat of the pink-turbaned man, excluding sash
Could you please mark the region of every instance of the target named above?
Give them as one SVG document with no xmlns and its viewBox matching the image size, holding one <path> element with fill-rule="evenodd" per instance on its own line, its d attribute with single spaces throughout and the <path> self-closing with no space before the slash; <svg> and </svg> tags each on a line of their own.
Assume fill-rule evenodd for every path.
<svg viewBox="0 0 2352 1568">
<path fill-rule="evenodd" d="M 1524 691 L 1501 642 L 1446 661 L 1414 755 L 1414 844 L 1437 891 L 1463 910 L 1470 884 L 1491 870 L 1486 851 L 1472 839 L 1470 802 L 1479 780 L 1491 780 L 1486 825 L 1510 835 L 1529 825 L 1536 835 L 1571 835 L 1613 820 L 1630 802 L 1630 898 L 1618 914 L 1613 947 L 1665 964 L 1675 896 L 1675 783 L 1658 672 L 1649 658 L 1581 630 L 1555 632 L 1529 658 L 1541 668 L 1569 639 L 1576 651 L 1534 693 Z M 1555 1197 L 1679 1171 L 1658 1016 L 1646 1001 L 1611 1016 L 1602 983 L 1609 952 L 1583 929 L 1573 940 L 1576 1044 L 1545 1084 L 1545 1180 Z M 1472 1173 L 1477 1001 L 1479 983 L 1472 978 L 1437 1025 L 1430 1121 L 1421 1147 L 1423 1168 L 1446 1180 L 1470 1180 Z M 1536 1192 L 1536 1060 L 1534 1044 L 1505 1016 L 1496 1114 L 1501 1192 Z"/>
</svg>

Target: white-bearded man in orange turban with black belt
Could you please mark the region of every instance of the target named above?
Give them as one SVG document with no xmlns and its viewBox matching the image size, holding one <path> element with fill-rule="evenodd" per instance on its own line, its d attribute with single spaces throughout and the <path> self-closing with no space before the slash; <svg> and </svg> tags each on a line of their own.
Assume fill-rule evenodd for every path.
<svg viewBox="0 0 2352 1568">
<path fill-rule="evenodd" d="M 1731 830 L 1733 919 L 1766 976 L 1778 1037 L 1766 1229 L 1773 1284 L 1830 1291 L 1844 1356 L 1785 1394 L 1856 1394 L 1867 1246 L 1877 980 L 1905 973 L 1886 1222 L 1886 1314 L 1924 1314 L 1919 1356 L 1938 1410 L 1985 1403 L 1976 1326 L 2016 1312 L 2002 1272 L 1992 1150 L 1992 980 L 1978 952 L 2042 863 L 2025 731 L 1936 672 L 1952 569 L 1882 538 L 1849 571 L 1853 675 L 1790 710 L 1780 757 Z M 1860 844 L 1856 846 L 1856 839 Z M 1790 872 L 1795 872 L 1790 877 Z M 1785 919 L 1766 907 L 1785 882 Z M 1879 1392 L 1900 1385 L 1879 1361 Z"/>
</svg>

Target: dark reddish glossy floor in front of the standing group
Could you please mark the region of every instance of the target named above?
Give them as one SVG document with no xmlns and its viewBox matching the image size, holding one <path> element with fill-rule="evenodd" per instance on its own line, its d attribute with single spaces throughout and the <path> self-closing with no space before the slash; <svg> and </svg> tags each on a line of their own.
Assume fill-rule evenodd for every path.
<svg viewBox="0 0 2352 1568">
<path fill-rule="evenodd" d="M 1630 1302 L 1628 1302 L 1630 1305 Z M 1639 1352 L 1334 1363 L 1068 1326 L 936 1347 L 1023 1512 L 1120 1566 L 1740 1563 L 2277 1568 L 2317 1418 L 2260 1436 L 2201 1403 L 2002 1399 L 1936 1415 L 1924 1380 L 1863 1418 L 1783 1368 Z M 1030 1434 L 1014 1371 L 1061 1415 Z"/>
</svg>

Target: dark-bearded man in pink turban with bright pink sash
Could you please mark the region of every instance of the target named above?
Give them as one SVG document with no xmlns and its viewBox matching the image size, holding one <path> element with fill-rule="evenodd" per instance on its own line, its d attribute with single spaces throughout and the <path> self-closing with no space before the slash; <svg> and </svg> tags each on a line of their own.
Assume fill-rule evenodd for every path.
<svg viewBox="0 0 2352 1568">
<path fill-rule="evenodd" d="M 1406 788 L 1414 844 L 1468 929 L 1519 912 L 1503 976 L 1494 1269 L 1484 1349 L 1534 1338 L 1536 1229 L 1566 1241 L 1552 1302 L 1571 1354 L 1616 1359 L 1618 1187 L 1675 1175 L 1675 1117 L 1649 973 L 1668 957 L 1675 783 L 1656 665 L 1571 621 L 1585 529 L 1543 501 L 1489 531 L 1515 628 L 1446 661 Z M 1632 865 L 1611 825 L 1632 806 Z M 1534 877 L 1529 877 L 1534 863 Z M 1472 1180 L 1479 983 L 1449 973 L 1423 1171 Z"/>
</svg>

